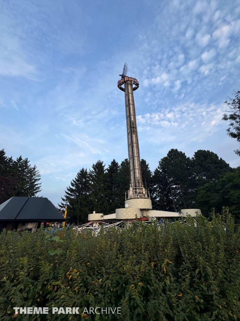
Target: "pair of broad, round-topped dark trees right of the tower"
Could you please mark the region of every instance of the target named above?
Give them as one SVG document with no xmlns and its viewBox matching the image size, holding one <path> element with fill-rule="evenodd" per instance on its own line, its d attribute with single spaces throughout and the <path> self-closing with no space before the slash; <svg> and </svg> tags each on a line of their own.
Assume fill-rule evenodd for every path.
<svg viewBox="0 0 240 321">
<path fill-rule="evenodd" d="M 214 188 L 224 174 L 230 175 L 234 171 L 213 152 L 198 150 L 189 158 L 183 152 L 171 149 L 159 161 L 152 176 L 153 207 L 174 212 L 182 208 L 200 208 L 208 215 L 212 206 L 218 210 L 224 204 L 232 206 L 224 198 L 220 201 Z M 236 184 L 231 188 L 235 191 L 233 194 L 237 194 Z M 232 213 L 236 213 L 235 209 Z"/>
</svg>

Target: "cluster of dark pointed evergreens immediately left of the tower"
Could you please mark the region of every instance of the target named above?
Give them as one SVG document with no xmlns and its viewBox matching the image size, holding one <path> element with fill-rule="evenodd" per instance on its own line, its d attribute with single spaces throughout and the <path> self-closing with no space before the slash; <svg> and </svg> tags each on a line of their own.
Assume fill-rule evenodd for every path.
<svg viewBox="0 0 240 321">
<path fill-rule="evenodd" d="M 98 160 L 92 169 L 82 168 L 67 187 L 60 208 L 67 205 L 70 221 L 86 222 L 88 214 L 115 213 L 116 208 L 124 207 L 125 191 L 129 188 L 129 163 L 125 159 L 120 166 L 116 160 L 105 169 L 103 161 Z M 64 212 L 64 210 L 63 210 Z"/>
</svg>

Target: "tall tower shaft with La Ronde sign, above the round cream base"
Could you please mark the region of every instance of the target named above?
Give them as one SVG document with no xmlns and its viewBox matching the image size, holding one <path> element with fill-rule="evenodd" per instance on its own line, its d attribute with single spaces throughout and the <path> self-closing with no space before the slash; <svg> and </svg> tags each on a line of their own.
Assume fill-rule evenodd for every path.
<svg viewBox="0 0 240 321">
<path fill-rule="evenodd" d="M 148 198 L 147 191 L 142 184 L 142 174 L 140 167 L 140 153 L 138 143 L 138 131 L 136 123 L 135 105 L 133 98 L 133 91 L 139 87 L 139 82 L 135 78 L 126 77 L 127 65 L 124 65 L 121 80 L 118 81 L 117 86 L 120 90 L 125 92 L 125 107 L 127 120 L 127 141 L 128 141 L 128 157 L 130 165 L 130 188 L 127 191 L 126 199 L 144 197 Z"/>
</svg>

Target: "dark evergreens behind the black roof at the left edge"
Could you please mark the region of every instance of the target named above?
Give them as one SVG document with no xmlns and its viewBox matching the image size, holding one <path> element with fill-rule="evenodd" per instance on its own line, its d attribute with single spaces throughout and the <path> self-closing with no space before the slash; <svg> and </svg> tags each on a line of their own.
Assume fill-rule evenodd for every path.
<svg viewBox="0 0 240 321">
<path fill-rule="evenodd" d="M 36 165 L 31 166 L 28 158 L 13 160 L 0 150 L 0 204 L 12 196 L 36 196 L 41 191 L 40 179 Z"/>
</svg>

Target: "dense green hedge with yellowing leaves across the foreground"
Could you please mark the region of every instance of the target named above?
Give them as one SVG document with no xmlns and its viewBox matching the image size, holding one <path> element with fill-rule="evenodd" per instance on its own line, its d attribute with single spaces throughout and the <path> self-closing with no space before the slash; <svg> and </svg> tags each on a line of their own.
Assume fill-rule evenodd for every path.
<svg viewBox="0 0 240 321">
<path fill-rule="evenodd" d="M 239 320 L 240 229 L 228 209 L 97 236 L 0 235 L 0 320 Z M 14 315 L 13 307 L 121 307 L 121 315 Z M 52 309 L 49 309 L 52 311 Z"/>
</svg>

